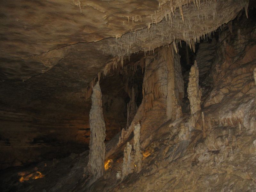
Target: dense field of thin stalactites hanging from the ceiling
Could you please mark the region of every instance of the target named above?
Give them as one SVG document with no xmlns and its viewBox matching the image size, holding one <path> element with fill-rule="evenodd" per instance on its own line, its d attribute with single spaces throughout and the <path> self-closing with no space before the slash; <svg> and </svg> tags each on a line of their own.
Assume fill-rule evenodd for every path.
<svg viewBox="0 0 256 192">
<path fill-rule="evenodd" d="M 145 54 L 154 53 L 156 47 L 171 44 L 173 41 L 178 43 L 179 39 L 193 49 L 200 39 L 212 38 L 213 33 L 218 31 L 220 26 L 228 23 L 235 16 L 235 12 L 244 8 L 248 15 L 249 0 L 233 1 L 233 6 L 229 7 L 232 10 L 228 12 L 222 12 L 223 4 L 229 6 L 228 2 L 214 0 L 193 2 L 181 0 L 170 4 L 160 3 L 160 9 L 151 14 L 151 23 L 144 28 L 131 30 L 123 36 L 116 36 L 116 42 L 105 47 L 103 54 L 111 54 L 123 60 L 124 57 L 130 57 L 132 53 L 139 51 L 144 51 Z M 136 17 L 131 18 L 132 23 Z M 130 17 L 128 16 L 127 19 L 129 21 Z"/>
</svg>

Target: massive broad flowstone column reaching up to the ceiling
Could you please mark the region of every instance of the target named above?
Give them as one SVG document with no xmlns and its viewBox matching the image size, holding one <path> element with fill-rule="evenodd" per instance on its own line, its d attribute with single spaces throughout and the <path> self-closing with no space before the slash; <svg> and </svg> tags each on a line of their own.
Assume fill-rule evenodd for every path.
<svg viewBox="0 0 256 192">
<path fill-rule="evenodd" d="M 182 116 L 181 101 L 184 97 L 180 55 L 171 44 L 162 47 L 145 59 L 143 79 L 144 118 L 141 120 L 143 133 L 155 130 L 165 120 L 175 120 Z M 177 49 L 177 47 L 176 47 Z"/>
</svg>

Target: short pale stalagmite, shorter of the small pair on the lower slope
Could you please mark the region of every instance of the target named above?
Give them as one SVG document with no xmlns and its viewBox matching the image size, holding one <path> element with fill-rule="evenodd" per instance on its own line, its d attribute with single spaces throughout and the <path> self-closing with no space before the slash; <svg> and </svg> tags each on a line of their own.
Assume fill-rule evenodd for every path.
<svg viewBox="0 0 256 192">
<path fill-rule="evenodd" d="M 123 168 L 122 168 L 122 180 L 130 173 L 134 171 L 132 145 L 127 142 L 124 148 Z"/>
</svg>

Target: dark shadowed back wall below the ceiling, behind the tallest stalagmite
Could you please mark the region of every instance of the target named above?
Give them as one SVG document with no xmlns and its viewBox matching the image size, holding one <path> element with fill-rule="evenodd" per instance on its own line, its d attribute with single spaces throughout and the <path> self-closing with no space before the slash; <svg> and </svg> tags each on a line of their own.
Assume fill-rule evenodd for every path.
<svg viewBox="0 0 256 192">
<path fill-rule="evenodd" d="M 113 78 L 120 80 L 116 75 Z M 41 85 L 34 85 L 34 80 L 0 85 L 4 92 L 0 95 L 0 169 L 89 149 L 91 101 L 86 100 L 86 86 L 63 95 L 65 88 L 55 87 L 58 93 L 52 87 L 52 94 L 40 95 Z M 110 140 L 126 125 L 126 93 L 122 79 L 120 92 L 113 91 L 116 87 L 111 89 L 106 80 L 102 78 L 101 83 L 106 140 Z"/>
</svg>

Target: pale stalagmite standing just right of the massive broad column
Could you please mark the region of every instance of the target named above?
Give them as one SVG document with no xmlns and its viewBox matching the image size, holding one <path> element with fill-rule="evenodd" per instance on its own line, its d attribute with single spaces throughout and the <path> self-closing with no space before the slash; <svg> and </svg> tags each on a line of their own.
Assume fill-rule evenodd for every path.
<svg viewBox="0 0 256 192">
<path fill-rule="evenodd" d="M 197 111 L 201 109 L 201 92 L 199 90 L 199 70 L 197 67 L 196 60 L 189 72 L 188 99 L 190 102 L 191 115 L 195 114 Z"/>
</svg>

